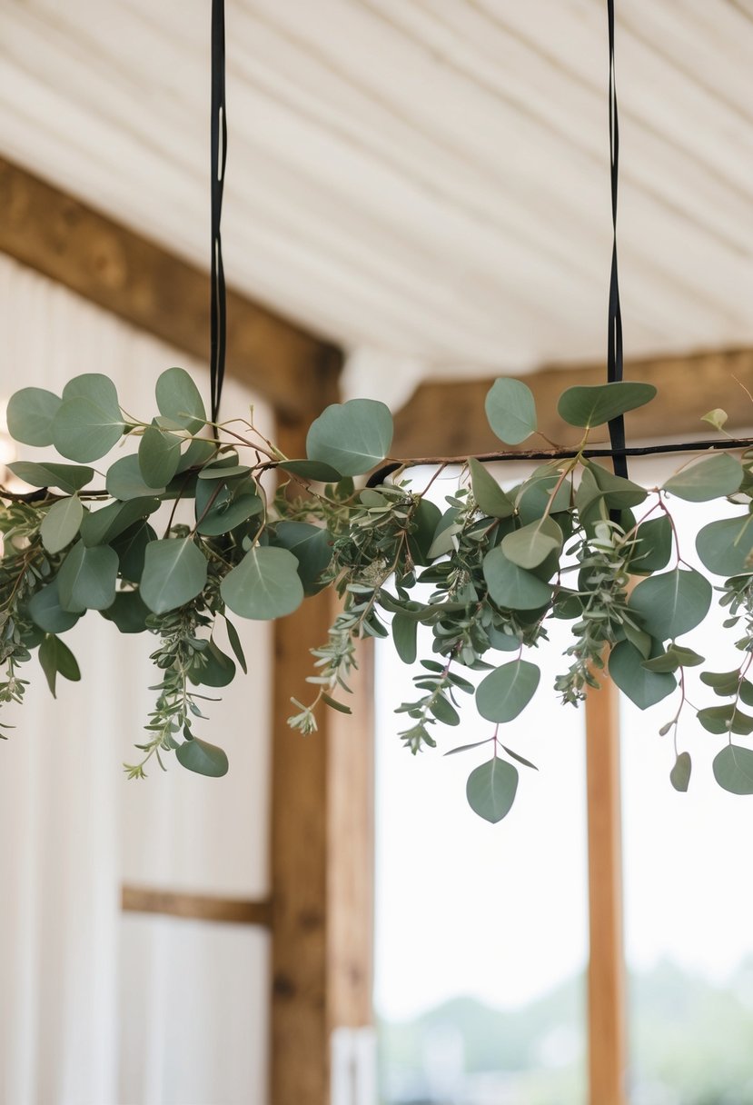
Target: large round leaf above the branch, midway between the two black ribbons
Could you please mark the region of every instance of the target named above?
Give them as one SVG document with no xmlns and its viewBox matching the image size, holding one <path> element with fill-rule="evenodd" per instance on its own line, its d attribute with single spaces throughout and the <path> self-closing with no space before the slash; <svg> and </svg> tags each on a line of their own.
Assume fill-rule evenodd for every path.
<svg viewBox="0 0 753 1105">
<path fill-rule="evenodd" d="M 309 461 L 330 465 L 340 475 L 358 476 L 380 464 L 392 444 L 392 414 L 376 399 L 332 403 L 306 436 Z"/>
</svg>

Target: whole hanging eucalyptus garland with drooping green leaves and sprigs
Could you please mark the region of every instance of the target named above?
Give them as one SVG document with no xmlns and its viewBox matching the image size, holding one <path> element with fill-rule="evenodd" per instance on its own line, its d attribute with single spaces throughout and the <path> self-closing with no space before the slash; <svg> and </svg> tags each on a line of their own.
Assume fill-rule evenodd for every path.
<svg viewBox="0 0 753 1105">
<path fill-rule="evenodd" d="M 460 703 L 473 697 L 490 723 L 491 755 L 471 772 L 467 797 L 478 814 L 499 821 L 512 806 L 519 766 L 532 767 L 509 746 L 503 726 L 533 698 L 540 670 L 531 657 L 559 620 L 572 629 L 554 684 L 563 703 L 583 699 L 605 667 L 641 708 L 679 688 L 660 730 L 675 732 L 675 788 L 687 790 L 690 780 L 677 730 L 691 712 L 727 738 L 713 761 L 719 785 L 753 793 L 753 750 L 736 739 L 753 733 L 753 450 L 745 448 L 753 442 L 727 439 L 717 410 L 704 418 L 719 440 L 703 443 L 704 454 L 662 487 L 647 491 L 612 474 L 594 460 L 611 451 L 590 449 L 593 430 L 654 394 L 650 385 L 627 381 L 569 388 L 558 411 L 582 429 L 576 449 L 545 451 L 551 459 L 506 488 L 469 457 L 442 511 L 427 492 L 449 461 L 437 461 L 420 491 L 409 478 L 417 462 L 385 469 L 392 417 L 374 400 L 328 407 L 308 431 L 307 455 L 286 457 L 254 424 L 253 411 L 247 420 L 208 420 L 180 368 L 159 377 L 158 413 L 145 421 L 125 413 L 103 375 L 76 377 L 60 397 L 24 388 L 8 407 L 11 435 L 54 445 L 73 463 L 19 461 L 11 471 L 38 490 L 1 492 L 0 702 L 22 701 L 23 664 L 33 652 L 53 695 L 59 677 L 78 680 L 64 634 L 96 611 L 121 633 L 158 640 L 158 696 L 129 777 L 142 777 L 151 761 L 165 766 L 170 751 L 189 770 L 224 775 L 225 753 L 194 729 L 205 688 L 227 685 L 236 666 L 246 670 L 232 619 L 280 618 L 331 587 L 341 611 L 315 650 L 312 696 L 293 698 L 289 724 L 304 734 L 316 730 L 321 708 L 349 712 L 359 639 L 391 636 L 413 664 L 418 628 L 426 627 L 432 653 L 421 660 L 415 697 L 397 711 L 401 739 L 414 754 L 434 747 L 436 727 L 458 726 Z M 533 396 L 520 380 L 497 380 L 486 413 L 507 445 L 535 433 Z M 92 463 L 119 442 L 138 449 L 97 474 Z M 729 451 L 735 444 L 740 459 Z M 485 460 L 519 455 L 508 450 Z M 363 485 L 359 477 L 368 473 Z M 736 506 L 698 534 L 708 576 L 682 559 L 672 497 Z M 733 671 L 707 666 L 681 641 L 709 614 L 714 588 L 741 653 Z M 216 642 L 219 621 L 232 656 Z M 708 688 L 699 707 L 686 696 L 691 667 L 701 669 Z"/>
</svg>

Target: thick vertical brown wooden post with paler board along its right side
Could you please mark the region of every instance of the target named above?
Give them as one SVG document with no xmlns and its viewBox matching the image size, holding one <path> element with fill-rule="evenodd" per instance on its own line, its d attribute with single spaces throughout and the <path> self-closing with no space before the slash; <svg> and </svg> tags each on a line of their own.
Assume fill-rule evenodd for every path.
<svg viewBox="0 0 753 1105">
<path fill-rule="evenodd" d="M 301 455 L 306 423 L 278 443 Z M 275 623 L 272 767 L 272 1102 L 328 1105 L 331 1032 L 371 1023 L 373 734 L 371 652 L 360 657 L 352 717 L 325 711 L 304 737 L 290 696 L 311 692 L 309 649 L 327 640 L 321 593 Z"/>
</svg>

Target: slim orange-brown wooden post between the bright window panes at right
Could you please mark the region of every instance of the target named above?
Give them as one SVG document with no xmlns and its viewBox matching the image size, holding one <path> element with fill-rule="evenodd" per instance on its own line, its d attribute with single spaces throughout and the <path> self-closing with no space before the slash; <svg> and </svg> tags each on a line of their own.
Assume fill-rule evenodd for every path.
<svg viewBox="0 0 753 1105">
<path fill-rule="evenodd" d="M 588 691 L 585 714 L 591 1105 L 626 1105 L 618 697 L 604 680 L 598 691 Z"/>
</svg>

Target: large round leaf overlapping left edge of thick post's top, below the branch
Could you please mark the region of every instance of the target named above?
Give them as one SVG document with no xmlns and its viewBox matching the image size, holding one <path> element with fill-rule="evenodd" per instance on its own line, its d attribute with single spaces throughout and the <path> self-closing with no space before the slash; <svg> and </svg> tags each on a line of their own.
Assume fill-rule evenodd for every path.
<svg viewBox="0 0 753 1105">
<path fill-rule="evenodd" d="M 220 585 L 230 609 L 241 618 L 272 621 L 291 613 L 304 601 L 298 561 L 293 552 L 255 545 Z"/>
</svg>

